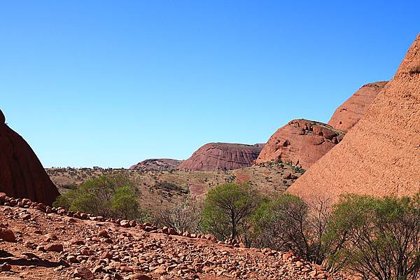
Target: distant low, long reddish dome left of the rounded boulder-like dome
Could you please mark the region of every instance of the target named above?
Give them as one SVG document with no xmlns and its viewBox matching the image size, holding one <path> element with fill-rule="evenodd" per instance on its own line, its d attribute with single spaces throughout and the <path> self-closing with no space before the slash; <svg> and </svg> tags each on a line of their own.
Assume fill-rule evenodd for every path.
<svg viewBox="0 0 420 280">
<path fill-rule="evenodd" d="M 245 145 L 209 143 L 199 148 L 179 169 L 186 171 L 218 171 L 250 167 L 258 158 L 263 144 Z"/>
</svg>

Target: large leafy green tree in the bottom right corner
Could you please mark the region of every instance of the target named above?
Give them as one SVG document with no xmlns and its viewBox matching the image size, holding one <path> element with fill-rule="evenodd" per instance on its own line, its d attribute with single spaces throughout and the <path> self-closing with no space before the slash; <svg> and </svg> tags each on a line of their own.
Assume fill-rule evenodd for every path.
<svg viewBox="0 0 420 280">
<path fill-rule="evenodd" d="M 332 245 L 330 265 L 365 280 L 419 279 L 419 202 L 419 195 L 346 195 L 325 234 Z"/>
</svg>

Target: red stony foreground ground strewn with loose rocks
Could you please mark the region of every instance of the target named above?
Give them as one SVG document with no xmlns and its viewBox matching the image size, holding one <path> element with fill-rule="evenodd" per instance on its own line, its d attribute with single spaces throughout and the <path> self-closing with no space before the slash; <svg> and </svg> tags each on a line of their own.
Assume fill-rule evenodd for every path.
<svg viewBox="0 0 420 280">
<path fill-rule="evenodd" d="M 0 194 L 0 279 L 344 279 L 293 253 L 241 248 Z"/>
</svg>

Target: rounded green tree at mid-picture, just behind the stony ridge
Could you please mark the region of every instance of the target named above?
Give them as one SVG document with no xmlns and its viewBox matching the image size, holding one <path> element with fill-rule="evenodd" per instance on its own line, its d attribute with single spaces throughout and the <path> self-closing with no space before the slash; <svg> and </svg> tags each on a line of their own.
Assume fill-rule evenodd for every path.
<svg viewBox="0 0 420 280">
<path fill-rule="evenodd" d="M 260 203 L 260 195 L 246 183 L 225 183 L 209 190 L 204 200 L 202 226 L 219 239 L 235 239 L 246 233 L 248 218 Z"/>
</svg>

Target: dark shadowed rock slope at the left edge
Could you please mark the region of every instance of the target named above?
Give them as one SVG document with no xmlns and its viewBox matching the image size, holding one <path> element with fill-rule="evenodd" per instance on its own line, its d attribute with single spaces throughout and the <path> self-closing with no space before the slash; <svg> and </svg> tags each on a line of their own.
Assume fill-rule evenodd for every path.
<svg viewBox="0 0 420 280">
<path fill-rule="evenodd" d="M 52 204 L 59 195 L 27 142 L 8 127 L 0 111 L 0 192 Z"/>
</svg>

